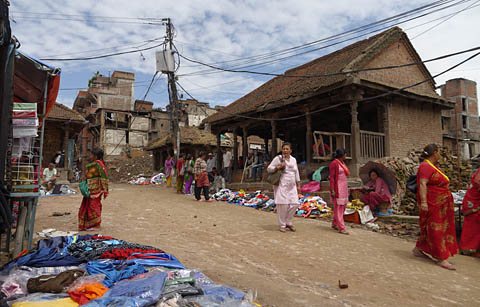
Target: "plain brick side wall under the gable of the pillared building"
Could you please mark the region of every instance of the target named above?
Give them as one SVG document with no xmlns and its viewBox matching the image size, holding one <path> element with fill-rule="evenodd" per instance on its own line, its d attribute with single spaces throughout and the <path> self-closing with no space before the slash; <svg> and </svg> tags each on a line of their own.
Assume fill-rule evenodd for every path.
<svg viewBox="0 0 480 307">
<path fill-rule="evenodd" d="M 442 144 L 441 111 L 431 104 L 396 101 L 389 106 L 390 151 L 404 157 L 413 148 Z"/>
</svg>

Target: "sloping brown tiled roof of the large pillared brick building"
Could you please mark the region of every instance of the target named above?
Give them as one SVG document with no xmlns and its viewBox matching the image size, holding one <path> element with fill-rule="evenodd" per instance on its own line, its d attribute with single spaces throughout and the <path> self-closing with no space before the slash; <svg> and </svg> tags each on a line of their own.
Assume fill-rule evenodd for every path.
<svg viewBox="0 0 480 307">
<path fill-rule="evenodd" d="M 383 48 L 387 47 L 388 43 L 394 42 L 402 36 L 406 37 L 405 33 L 400 28 L 394 27 L 316 60 L 290 69 L 286 71 L 285 74 L 323 75 L 356 69 L 361 67 L 365 61 L 368 61 L 377 55 L 383 50 Z M 425 69 L 425 72 L 429 75 L 428 70 Z M 288 104 L 299 100 L 301 96 L 314 93 L 321 88 L 345 80 L 347 80 L 347 75 L 319 78 L 275 77 L 225 107 L 223 111 L 226 113 L 217 112 L 206 118 L 204 121 L 216 122 L 229 118 L 230 115 L 228 115 L 228 113 L 242 114 L 252 112 L 258 110 L 259 107 L 267 106 L 274 102 L 285 102 Z M 432 96 L 432 93 L 425 93 L 425 95 Z M 438 97 L 434 93 L 433 95 Z"/>
</svg>

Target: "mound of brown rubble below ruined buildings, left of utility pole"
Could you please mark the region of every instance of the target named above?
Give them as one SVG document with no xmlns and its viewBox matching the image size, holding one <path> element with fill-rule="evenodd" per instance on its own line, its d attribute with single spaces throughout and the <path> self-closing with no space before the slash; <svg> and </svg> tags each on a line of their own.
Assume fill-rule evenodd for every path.
<svg viewBox="0 0 480 307">
<path fill-rule="evenodd" d="M 127 183 L 139 177 L 153 175 L 153 158 L 150 153 L 136 157 L 118 157 L 107 163 L 108 177 L 111 182 Z"/>
</svg>

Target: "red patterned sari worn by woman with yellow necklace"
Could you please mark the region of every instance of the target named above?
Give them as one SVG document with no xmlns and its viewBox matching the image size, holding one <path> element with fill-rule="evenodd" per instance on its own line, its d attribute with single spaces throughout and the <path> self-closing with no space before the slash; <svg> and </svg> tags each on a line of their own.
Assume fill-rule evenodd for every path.
<svg viewBox="0 0 480 307">
<path fill-rule="evenodd" d="M 419 187 L 421 178 L 428 179 L 428 211 L 420 209 L 420 237 L 417 247 L 436 259 L 445 260 L 458 253 L 453 197 L 448 190 L 450 182 L 426 162 L 422 162 L 418 169 Z M 419 189 L 419 207 L 420 201 Z"/>
</svg>

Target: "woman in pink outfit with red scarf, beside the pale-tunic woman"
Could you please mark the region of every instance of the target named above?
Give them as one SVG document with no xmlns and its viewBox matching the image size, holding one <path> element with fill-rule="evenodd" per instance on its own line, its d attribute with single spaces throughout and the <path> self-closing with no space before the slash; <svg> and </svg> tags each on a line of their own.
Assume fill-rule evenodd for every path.
<svg viewBox="0 0 480 307">
<path fill-rule="evenodd" d="M 345 159 L 345 149 L 337 149 L 334 159 L 330 163 L 330 197 L 333 202 L 332 228 L 341 234 L 348 235 L 345 230 L 343 214 L 348 203 L 347 177 L 350 175 L 350 171 L 345 164 Z"/>
</svg>

